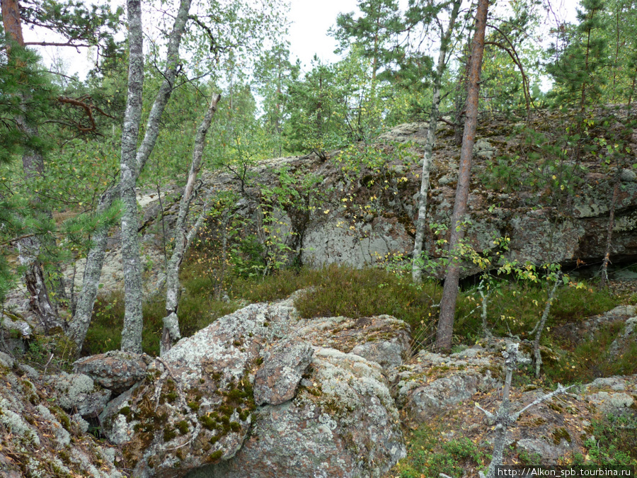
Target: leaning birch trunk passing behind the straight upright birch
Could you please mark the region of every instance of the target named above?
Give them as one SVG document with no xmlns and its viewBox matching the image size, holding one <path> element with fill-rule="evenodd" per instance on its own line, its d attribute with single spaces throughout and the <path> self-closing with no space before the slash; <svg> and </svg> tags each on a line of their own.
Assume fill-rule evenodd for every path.
<svg viewBox="0 0 637 478">
<path fill-rule="evenodd" d="M 166 103 L 168 103 L 168 99 L 171 97 L 171 93 L 173 92 L 173 84 L 177 77 L 179 64 L 179 45 L 185 30 L 186 22 L 188 21 L 190 3 L 191 0 L 181 0 L 180 2 L 179 11 L 168 42 L 168 61 L 166 69 L 163 71 L 163 83 L 155 96 L 155 100 L 147 120 L 144 140 L 142 140 L 142 144 L 140 144 L 139 149 L 137 149 L 137 167 L 135 171 L 136 179 L 142 169 L 144 169 L 144 165 L 155 147 L 157 137 L 159 136 L 159 120 L 161 119 L 163 110 L 166 108 Z M 108 210 L 108 208 L 113 205 L 114 200 L 119 197 L 119 184 L 106 190 L 100 198 L 100 203 L 97 208 L 98 214 Z M 88 326 L 91 324 L 91 314 L 93 313 L 93 305 L 95 304 L 98 295 L 106 244 L 108 244 L 108 229 L 104 228 L 98 230 L 93 236 L 93 246 L 91 246 L 91 250 L 88 252 L 88 256 L 86 257 L 82 290 L 79 293 L 76 313 L 70 325 L 70 336 L 76 343 L 78 350 L 81 349 L 82 343 L 84 343 L 84 338 L 86 338 Z"/>
</svg>

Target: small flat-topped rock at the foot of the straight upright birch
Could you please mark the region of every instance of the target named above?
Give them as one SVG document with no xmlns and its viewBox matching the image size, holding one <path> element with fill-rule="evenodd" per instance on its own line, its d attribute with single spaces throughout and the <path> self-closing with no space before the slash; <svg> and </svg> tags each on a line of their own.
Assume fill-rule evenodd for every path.
<svg viewBox="0 0 637 478">
<path fill-rule="evenodd" d="M 120 394 L 146 377 L 146 368 L 152 359 L 122 351 L 110 351 L 76 360 L 73 369 L 91 377 L 96 384 Z"/>
</svg>

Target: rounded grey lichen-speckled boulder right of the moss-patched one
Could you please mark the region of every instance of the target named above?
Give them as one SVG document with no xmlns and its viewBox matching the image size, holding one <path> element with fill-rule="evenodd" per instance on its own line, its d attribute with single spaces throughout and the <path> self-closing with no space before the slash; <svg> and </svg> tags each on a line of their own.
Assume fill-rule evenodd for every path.
<svg viewBox="0 0 637 478">
<path fill-rule="evenodd" d="M 229 462 L 195 477 L 381 477 L 406 453 L 398 411 L 379 365 L 318 348 L 309 387 L 256 411 L 250 438 Z"/>
</svg>

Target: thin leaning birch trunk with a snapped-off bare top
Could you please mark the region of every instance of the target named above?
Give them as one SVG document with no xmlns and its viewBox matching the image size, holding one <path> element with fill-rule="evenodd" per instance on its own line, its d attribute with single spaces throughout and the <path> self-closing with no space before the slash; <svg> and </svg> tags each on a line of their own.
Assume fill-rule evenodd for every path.
<svg viewBox="0 0 637 478">
<path fill-rule="evenodd" d="M 193 148 L 193 161 L 190 163 L 188 181 L 186 182 L 183 195 L 181 196 L 181 201 L 179 203 L 179 212 L 177 214 L 177 222 L 175 224 L 175 249 L 173 249 L 173 255 L 171 256 L 171 260 L 168 262 L 168 270 L 166 271 L 166 317 L 163 318 L 160 355 L 168 352 L 173 343 L 181 336 L 179 333 L 179 319 L 177 315 L 177 307 L 181 290 L 179 282 L 179 268 L 181 266 L 181 261 L 183 261 L 183 255 L 188 250 L 190 242 L 193 241 L 193 237 L 195 237 L 197 229 L 199 229 L 203 217 L 205 217 L 205 212 L 200 215 L 195 226 L 188 232 L 186 231 L 186 219 L 188 217 L 188 211 L 190 210 L 190 203 L 193 201 L 197 174 L 201 169 L 201 159 L 206 145 L 206 135 L 210 129 L 212 116 L 217 112 L 217 103 L 219 103 L 220 99 L 221 95 L 217 95 L 216 98 L 213 98 L 212 101 L 210 101 L 210 107 L 197 129 L 195 147 Z"/>
</svg>

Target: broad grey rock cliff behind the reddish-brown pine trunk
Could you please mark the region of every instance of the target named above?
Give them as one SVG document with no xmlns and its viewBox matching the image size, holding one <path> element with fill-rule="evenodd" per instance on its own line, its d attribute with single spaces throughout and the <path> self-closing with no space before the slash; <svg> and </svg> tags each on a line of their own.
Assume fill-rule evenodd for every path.
<svg viewBox="0 0 637 478">
<path fill-rule="evenodd" d="M 636 133 L 621 132 L 629 152 L 619 161 L 597 146 L 599 138 L 607 141 L 604 137 L 615 134 L 602 127 L 590 132 L 580 158 L 574 158 L 560 152 L 563 138 L 556 129 L 562 122 L 537 117 L 528 125 L 512 125 L 510 120 L 483 118 L 474 148 L 467 241 L 476 251 L 495 254 L 493 240 L 509 237 L 507 257 L 522 263 L 599 263 L 617 179 L 611 258 L 634 260 L 637 174 L 631 166 L 637 161 Z M 358 145 L 333 152 L 326 161 L 310 155 L 270 160 L 258 168 L 266 184 L 277 183 L 281 167 L 296 178 L 314 175 L 321 181 L 315 193 L 304 192 L 310 205 L 304 220 L 294 217 L 298 210 L 289 205 L 279 206 L 276 215 L 279 232 L 287 234 L 287 245 L 302 263 L 360 267 L 411 254 L 426 126 L 394 128 L 367 149 L 367 157 Z M 437 132 L 427 200 L 425 251 L 433 258 L 442 253 L 437 241 L 447 235 L 441 226 L 448 227 L 452 215 L 458 159 L 453 131 L 443 126 Z M 464 273 L 474 272 L 469 266 Z"/>
</svg>

